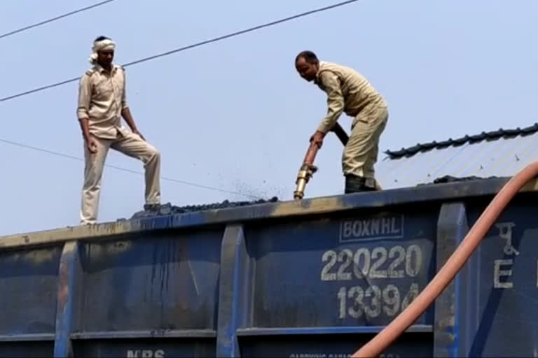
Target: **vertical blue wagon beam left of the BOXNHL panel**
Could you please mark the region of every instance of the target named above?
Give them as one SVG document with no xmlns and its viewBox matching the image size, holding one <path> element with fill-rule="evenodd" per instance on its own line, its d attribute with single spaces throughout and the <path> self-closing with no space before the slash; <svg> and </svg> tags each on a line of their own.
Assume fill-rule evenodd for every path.
<svg viewBox="0 0 538 358">
<path fill-rule="evenodd" d="M 219 317 L 217 318 L 216 357 L 240 357 L 237 328 L 249 312 L 250 259 L 244 241 L 243 227 L 226 227 L 221 248 Z"/>
</svg>

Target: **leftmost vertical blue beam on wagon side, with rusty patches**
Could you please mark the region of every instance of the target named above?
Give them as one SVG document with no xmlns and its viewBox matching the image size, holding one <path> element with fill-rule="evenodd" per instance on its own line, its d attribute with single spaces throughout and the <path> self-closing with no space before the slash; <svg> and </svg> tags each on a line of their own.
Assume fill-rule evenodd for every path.
<svg viewBox="0 0 538 358">
<path fill-rule="evenodd" d="M 71 332 L 76 318 L 78 287 L 82 272 L 78 248 L 78 241 L 68 241 L 64 245 L 60 259 L 54 357 L 73 357 Z"/>
</svg>

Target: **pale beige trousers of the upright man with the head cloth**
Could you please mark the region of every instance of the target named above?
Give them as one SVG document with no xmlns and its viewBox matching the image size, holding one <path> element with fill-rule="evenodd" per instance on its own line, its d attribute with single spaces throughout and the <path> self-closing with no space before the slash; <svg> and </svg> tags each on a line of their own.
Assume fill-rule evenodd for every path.
<svg viewBox="0 0 538 358">
<path fill-rule="evenodd" d="M 84 141 L 84 184 L 82 188 L 81 224 L 95 224 L 101 192 L 101 178 L 109 148 L 141 160 L 146 171 L 146 204 L 160 203 L 160 153 L 137 134 L 118 132 L 115 139 L 95 138 L 97 152 L 91 153 Z"/>
</svg>

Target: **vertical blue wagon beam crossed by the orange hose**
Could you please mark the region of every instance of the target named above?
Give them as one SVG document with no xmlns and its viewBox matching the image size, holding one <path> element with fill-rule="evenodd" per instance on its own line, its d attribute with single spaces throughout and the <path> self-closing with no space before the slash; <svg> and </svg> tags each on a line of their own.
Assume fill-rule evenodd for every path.
<svg viewBox="0 0 538 358">
<path fill-rule="evenodd" d="M 444 203 L 437 221 L 436 271 L 446 263 L 468 231 L 464 203 Z M 460 279 L 458 273 L 435 301 L 434 357 L 463 357 L 458 322 Z"/>
</svg>

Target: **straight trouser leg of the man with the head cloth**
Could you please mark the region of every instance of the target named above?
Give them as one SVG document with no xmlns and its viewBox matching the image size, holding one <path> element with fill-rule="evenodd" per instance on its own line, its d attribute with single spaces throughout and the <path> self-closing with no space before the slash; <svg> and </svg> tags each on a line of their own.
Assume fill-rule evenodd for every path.
<svg viewBox="0 0 538 358">
<path fill-rule="evenodd" d="M 81 224 L 95 224 L 101 194 L 101 178 L 104 161 L 109 151 L 109 140 L 95 138 L 97 152 L 91 153 L 85 141 L 84 145 L 84 184 L 82 187 Z"/>
</svg>

